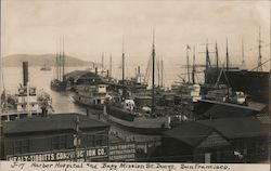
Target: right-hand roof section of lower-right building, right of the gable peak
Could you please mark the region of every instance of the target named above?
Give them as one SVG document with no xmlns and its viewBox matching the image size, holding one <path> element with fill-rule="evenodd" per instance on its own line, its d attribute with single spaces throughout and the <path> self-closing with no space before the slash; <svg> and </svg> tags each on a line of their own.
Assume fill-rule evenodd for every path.
<svg viewBox="0 0 271 171">
<path fill-rule="evenodd" d="M 197 122 L 216 129 L 228 139 L 268 135 L 268 130 L 266 130 L 263 124 L 255 117 L 198 120 Z"/>
</svg>

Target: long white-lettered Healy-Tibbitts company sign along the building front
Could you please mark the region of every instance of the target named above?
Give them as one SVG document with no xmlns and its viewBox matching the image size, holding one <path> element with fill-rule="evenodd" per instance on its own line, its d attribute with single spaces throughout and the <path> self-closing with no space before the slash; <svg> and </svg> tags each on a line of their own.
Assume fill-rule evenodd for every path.
<svg viewBox="0 0 271 171">
<path fill-rule="evenodd" d="M 78 148 L 57 150 L 57 152 L 42 152 L 21 155 L 9 155 L 7 160 L 10 161 L 70 161 L 74 159 L 78 160 L 90 160 L 91 158 L 104 158 L 108 157 L 108 147 L 95 147 L 95 148 Z"/>
</svg>

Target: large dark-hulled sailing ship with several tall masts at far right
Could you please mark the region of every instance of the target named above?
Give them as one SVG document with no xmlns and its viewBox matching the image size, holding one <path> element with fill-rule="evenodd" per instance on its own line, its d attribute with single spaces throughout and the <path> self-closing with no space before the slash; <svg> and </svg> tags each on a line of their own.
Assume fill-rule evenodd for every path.
<svg viewBox="0 0 271 171">
<path fill-rule="evenodd" d="M 230 102 L 246 105 L 246 101 L 268 102 L 269 94 L 269 71 L 262 70 L 262 65 L 269 62 L 261 62 L 261 40 L 259 30 L 258 44 L 258 64 L 255 68 L 248 70 L 238 67 L 230 67 L 228 43 L 227 43 L 227 60 L 225 68 L 218 66 L 207 67 L 205 69 L 205 83 L 202 93 L 205 97 L 210 97 L 217 101 Z M 216 51 L 217 52 L 217 51 Z M 207 53 L 206 53 L 207 54 Z M 208 55 L 208 54 L 207 54 Z M 206 55 L 206 56 L 207 56 Z M 206 57 L 207 58 L 207 57 Z M 244 45 L 242 41 L 242 67 L 244 67 Z M 219 87 L 222 89 L 219 89 Z M 209 94 L 209 95 L 208 95 Z M 215 95 L 217 94 L 217 95 Z M 224 96 L 221 100 L 221 94 Z"/>
</svg>

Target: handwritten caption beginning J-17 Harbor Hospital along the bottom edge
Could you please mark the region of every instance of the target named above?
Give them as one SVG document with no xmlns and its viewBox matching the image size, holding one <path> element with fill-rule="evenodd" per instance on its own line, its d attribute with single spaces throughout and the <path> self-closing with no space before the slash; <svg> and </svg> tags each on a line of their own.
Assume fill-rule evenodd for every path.
<svg viewBox="0 0 271 171">
<path fill-rule="evenodd" d="M 229 165 L 207 165 L 207 163 L 140 163 L 140 162 L 10 162 L 14 170 L 230 170 Z"/>
</svg>

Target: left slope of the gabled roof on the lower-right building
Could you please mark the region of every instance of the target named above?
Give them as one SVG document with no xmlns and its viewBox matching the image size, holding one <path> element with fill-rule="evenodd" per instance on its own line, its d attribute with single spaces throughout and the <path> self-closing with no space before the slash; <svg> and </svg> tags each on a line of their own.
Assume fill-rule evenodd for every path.
<svg viewBox="0 0 271 171">
<path fill-rule="evenodd" d="M 210 127 L 191 121 L 184 122 L 181 126 L 173 128 L 172 130 L 166 131 L 165 134 L 184 142 L 188 145 L 196 146 L 212 131 L 214 129 Z"/>
</svg>

